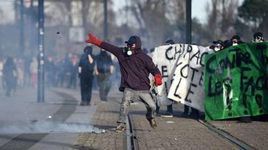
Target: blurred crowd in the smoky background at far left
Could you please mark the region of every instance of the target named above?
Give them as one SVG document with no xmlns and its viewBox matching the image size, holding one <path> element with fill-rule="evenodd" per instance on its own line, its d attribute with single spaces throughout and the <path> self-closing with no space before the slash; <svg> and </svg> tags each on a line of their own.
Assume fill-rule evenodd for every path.
<svg viewBox="0 0 268 150">
<path fill-rule="evenodd" d="M 78 83 L 77 54 L 68 54 L 63 59 L 46 58 L 46 87 L 76 88 Z M 0 93 L 11 96 L 17 88 L 34 87 L 38 83 L 37 58 L 12 58 L 5 56 L 0 59 Z"/>
</svg>

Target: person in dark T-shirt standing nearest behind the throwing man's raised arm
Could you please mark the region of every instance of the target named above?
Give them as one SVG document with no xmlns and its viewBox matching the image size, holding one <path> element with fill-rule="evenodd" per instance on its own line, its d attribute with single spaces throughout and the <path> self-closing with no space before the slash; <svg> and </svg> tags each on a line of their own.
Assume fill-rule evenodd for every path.
<svg viewBox="0 0 268 150">
<path fill-rule="evenodd" d="M 114 65 L 111 55 L 108 55 L 104 49 L 96 57 L 97 67 L 95 67 L 98 76 L 99 94 L 101 102 L 107 101 L 108 93 L 111 89 L 111 74 L 114 72 Z"/>
</svg>

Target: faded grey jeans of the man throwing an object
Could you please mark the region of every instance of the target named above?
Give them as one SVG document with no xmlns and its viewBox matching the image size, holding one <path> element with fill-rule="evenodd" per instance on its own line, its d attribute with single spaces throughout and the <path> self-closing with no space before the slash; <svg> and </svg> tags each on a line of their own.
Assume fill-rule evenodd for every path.
<svg viewBox="0 0 268 150">
<path fill-rule="evenodd" d="M 151 119 L 155 116 L 155 102 L 150 90 L 145 91 L 135 91 L 130 88 L 125 88 L 124 96 L 122 98 L 120 106 L 120 114 L 117 120 L 118 125 L 125 127 L 127 115 L 129 112 L 129 105 L 132 102 L 141 101 L 147 108 L 146 118 Z"/>
</svg>

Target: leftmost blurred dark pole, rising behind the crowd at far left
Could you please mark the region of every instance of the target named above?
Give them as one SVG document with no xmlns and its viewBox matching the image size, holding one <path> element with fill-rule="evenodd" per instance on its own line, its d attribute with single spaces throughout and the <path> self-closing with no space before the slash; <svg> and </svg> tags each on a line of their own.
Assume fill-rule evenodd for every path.
<svg viewBox="0 0 268 150">
<path fill-rule="evenodd" d="M 19 24 L 19 44 L 20 44 L 20 55 L 24 54 L 24 5 L 23 0 L 20 0 L 20 24 Z"/>
</svg>

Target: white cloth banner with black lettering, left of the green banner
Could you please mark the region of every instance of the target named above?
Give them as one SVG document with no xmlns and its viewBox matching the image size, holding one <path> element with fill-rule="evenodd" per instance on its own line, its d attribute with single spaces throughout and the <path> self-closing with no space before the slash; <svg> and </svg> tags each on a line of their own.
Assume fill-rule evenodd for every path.
<svg viewBox="0 0 268 150">
<path fill-rule="evenodd" d="M 204 112 L 204 59 L 213 50 L 197 45 L 175 44 L 155 49 L 153 62 L 163 77 L 163 85 L 168 94 L 157 98 L 158 104 L 170 105 L 168 98 Z"/>
</svg>

